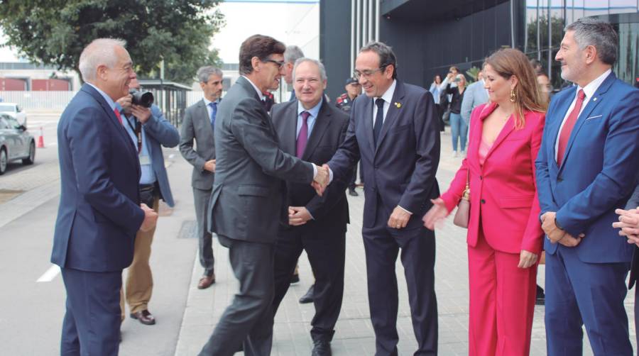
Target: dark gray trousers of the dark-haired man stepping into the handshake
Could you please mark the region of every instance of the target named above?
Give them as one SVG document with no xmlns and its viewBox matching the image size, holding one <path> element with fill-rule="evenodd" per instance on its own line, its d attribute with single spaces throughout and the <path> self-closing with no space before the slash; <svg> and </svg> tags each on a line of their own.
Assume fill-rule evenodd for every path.
<svg viewBox="0 0 639 356">
<path fill-rule="evenodd" d="M 273 250 L 275 245 L 218 235 L 229 248 L 239 292 L 217 323 L 200 356 L 231 356 L 244 345 L 244 355 L 271 354 L 273 342 Z"/>
</svg>

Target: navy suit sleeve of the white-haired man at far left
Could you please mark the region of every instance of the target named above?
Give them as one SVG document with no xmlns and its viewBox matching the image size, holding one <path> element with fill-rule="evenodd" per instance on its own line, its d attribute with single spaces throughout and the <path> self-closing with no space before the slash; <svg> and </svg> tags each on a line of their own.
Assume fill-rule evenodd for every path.
<svg viewBox="0 0 639 356">
<path fill-rule="evenodd" d="M 119 152 L 126 154 L 126 150 L 111 147 L 109 134 L 113 129 L 107 125 L 109 122 L 104 119 L 102 109 L 87 108 L 77 113 L 68 128 L 78 192 L 115 225 L 136 233 L 144 220 L 144 212 L 111 182 L 109 156 Z"/>
</svg>

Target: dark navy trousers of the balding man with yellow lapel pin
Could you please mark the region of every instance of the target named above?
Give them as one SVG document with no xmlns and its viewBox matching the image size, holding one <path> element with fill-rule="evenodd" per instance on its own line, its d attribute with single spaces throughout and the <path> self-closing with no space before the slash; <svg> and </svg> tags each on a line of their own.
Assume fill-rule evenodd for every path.
<svg viewBox="0 0 639 356">
<path fill-rule="evenodd" d="M 378 210 L 383 210 L 379 208 Z M 420 228 L 408 235 L 391 235 L 388 216 L 378 211 L 378 226 L 364 228 L 368 304 L 375 330 L 376 356 L 398 355 L 398 287 L 395 261 L 400 252 L 413 331 L 414 355 L 437 355 L 437 297 L 435 296 L 435 233 Z"/>
</svg>

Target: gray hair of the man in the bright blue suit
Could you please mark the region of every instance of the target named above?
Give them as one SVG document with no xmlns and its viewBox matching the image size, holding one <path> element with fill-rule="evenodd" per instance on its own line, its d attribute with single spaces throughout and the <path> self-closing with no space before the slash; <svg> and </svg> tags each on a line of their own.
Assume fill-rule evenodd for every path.
<svg viewBox="0 0 639 356">
<path fill-rule="evenodd" d="M 610 23 L 584 17 L 566 26 L 565 30 L 574 31 L 574 40 L 579 49 L 584 50 L 592 45 L 597 49 L 601 62 L 606 65 L 615 64 L 619 37 Z"/>
</svg>

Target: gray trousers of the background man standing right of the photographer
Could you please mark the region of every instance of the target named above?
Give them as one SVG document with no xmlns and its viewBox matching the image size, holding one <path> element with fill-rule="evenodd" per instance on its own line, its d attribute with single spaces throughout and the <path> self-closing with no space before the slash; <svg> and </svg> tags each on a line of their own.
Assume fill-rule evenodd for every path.
<svg viewBox="0 0 639 356">
<path fill-rule="evenodd" d="M 193 201 L 195 202 L 195 218 L 197 219 L 197 242 L 200 244 L 200 265 L 204 267 L 204 274 L 213 275 L 213 240 L 207 227 L 207 211 L 209 211 L 209 199 L 211 189 L 193 188 Z"/>
</svg>

